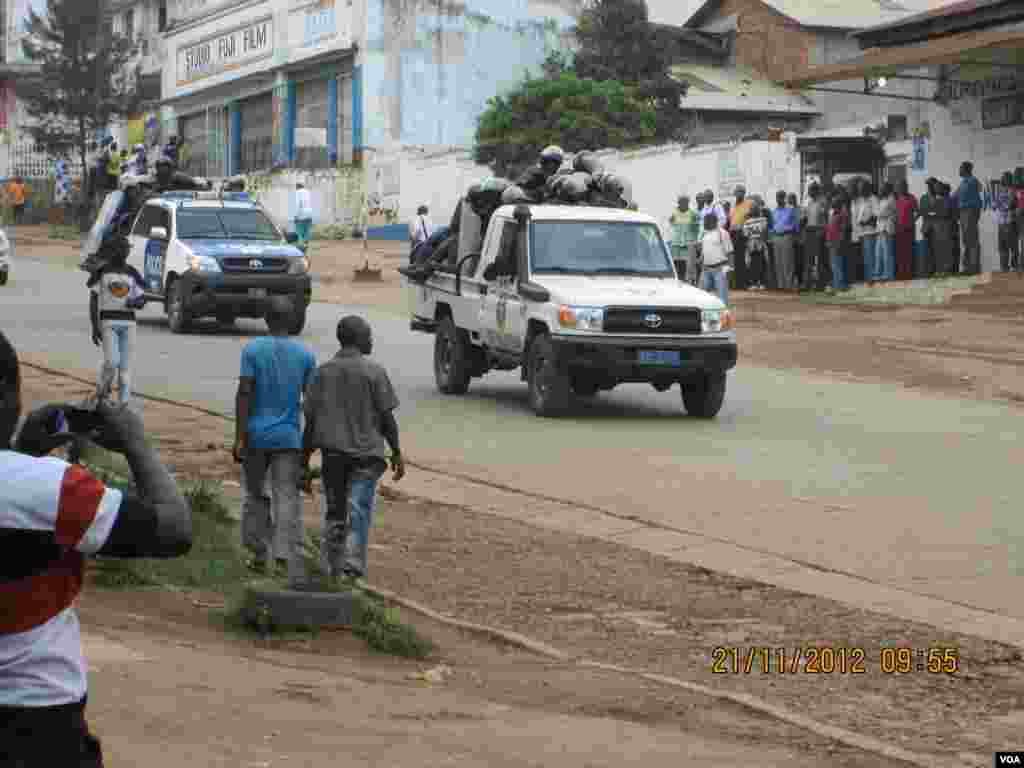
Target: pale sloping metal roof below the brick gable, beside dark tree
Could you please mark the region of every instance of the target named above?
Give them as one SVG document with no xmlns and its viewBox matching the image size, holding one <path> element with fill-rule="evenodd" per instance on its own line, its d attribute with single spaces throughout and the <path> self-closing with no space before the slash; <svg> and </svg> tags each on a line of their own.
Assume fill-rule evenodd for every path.
<svg viewBox="0 0 1024 768">
<path fill-rule="evenodd" d="M 800 93 L 749 70 L 732 67 L 677 65 L 672 76 L 689 84 L 683 106 L 708 112 L 766 112 L 820 115 Z"/>
</svg>

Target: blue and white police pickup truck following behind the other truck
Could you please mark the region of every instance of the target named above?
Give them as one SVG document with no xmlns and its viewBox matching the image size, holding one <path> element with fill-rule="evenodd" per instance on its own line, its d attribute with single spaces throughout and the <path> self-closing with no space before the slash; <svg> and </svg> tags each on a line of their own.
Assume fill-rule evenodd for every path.
<svg viewBox="0 0 1024 768">
<path fill-rule="evenodd" d="M 295 306 L 302 333 L 312 296 L 309 262 L 244 193 L 164 193 L 145 202 L 129 234 L 128 262 L 145 298 L 164 304 L 173 333 L 193 321 L 262 317 L 271 296 Z"/>
</svg>

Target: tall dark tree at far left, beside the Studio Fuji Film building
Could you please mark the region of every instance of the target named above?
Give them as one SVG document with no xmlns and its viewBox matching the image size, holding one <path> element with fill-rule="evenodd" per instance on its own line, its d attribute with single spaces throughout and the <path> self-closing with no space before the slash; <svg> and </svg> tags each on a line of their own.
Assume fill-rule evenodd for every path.
<svg viewBox="0 0 1024 768">
<path fill-rule="evenodd" d="M 139 104 L 135 46 L 110 31 L 104 5 L 105 0 L 47 0 L 45 13 L 31 9 L 22 47 L 37 71 L 15 86 L 36 145 L 51 157 L 77 157 L 86 173 L 97 129 Z"/>
</svg>

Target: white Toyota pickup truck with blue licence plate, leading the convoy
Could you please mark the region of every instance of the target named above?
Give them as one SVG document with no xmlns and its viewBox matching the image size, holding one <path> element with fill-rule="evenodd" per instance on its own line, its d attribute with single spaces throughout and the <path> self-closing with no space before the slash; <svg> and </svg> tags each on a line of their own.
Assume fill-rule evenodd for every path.
<svg viewBox="0 0 1024 768">
<path fill-rule="evenodd" d="M 522 370 L 539 416 L 617 384 L 680 384 L 691 416 L 722 408 L 736 365 L 733 316 L 679 281 L 657 223 L 612 208 L 504 206 L 479 252 L 403 270 L 412 328 L 435 335 L 434 375 L 464 394 L 488 371 Z"/>
</svg>

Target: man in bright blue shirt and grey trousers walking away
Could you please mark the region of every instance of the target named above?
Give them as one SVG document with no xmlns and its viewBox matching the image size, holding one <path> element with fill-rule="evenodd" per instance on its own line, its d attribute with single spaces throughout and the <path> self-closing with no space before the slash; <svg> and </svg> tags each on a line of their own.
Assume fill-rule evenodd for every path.
<svg viewBox="0 0 1024 768">
<path fill-rule="evenodd" d="M 272 552 L 279 566 L 287 563 L 289 583 L 298 586 L 306 578 L 300 418 L 302 393 L 316 371 L 316 358 L 288 338 L 293 315 L 290 299 L 273 297 L 266 313 L 270 335 L 242 350 L 233 453 L 245 480 L 242 542 L 253 555 L 252 567 L 265 572 Z"/>
</svg>

